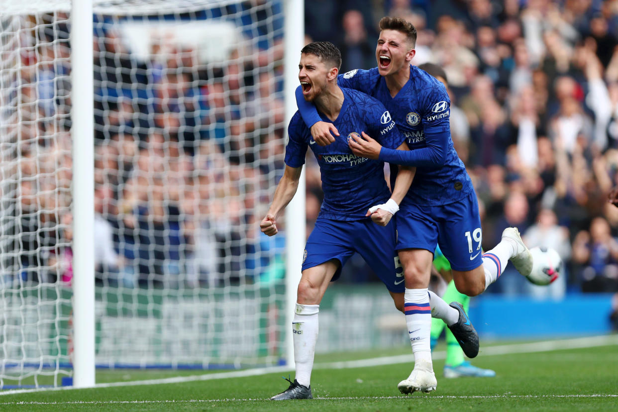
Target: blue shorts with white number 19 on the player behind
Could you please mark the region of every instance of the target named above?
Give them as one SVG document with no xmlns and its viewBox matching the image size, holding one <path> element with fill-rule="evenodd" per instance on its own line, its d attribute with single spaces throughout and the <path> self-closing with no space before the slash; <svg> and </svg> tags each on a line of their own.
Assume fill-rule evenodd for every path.
<svg viewBox="0 0 618 412">
<path fill-rule="evenodd" d="M 426 249 L 434 253 L 439 245 L 455 271 L 470 271 L 483 264 L 483 231 L 475 191 L 439 206 L 405 203 L 394 217 L 397 250 Z"/>
</svg>

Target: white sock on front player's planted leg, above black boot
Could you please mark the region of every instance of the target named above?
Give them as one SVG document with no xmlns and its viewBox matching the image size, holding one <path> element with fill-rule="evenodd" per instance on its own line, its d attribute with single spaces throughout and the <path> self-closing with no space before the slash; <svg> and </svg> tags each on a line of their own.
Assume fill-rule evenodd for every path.
<svg viewBox="0 0 618 412">
<path fill-rule="evenodd" d="M 296 364 L 296 380 L 299 384 L 309 387 L 315 343 L 318 340 L 318 312 L 320 305 L 296 304 L 292 334 L 294 340 L 294 363 Z"/>
</svg>

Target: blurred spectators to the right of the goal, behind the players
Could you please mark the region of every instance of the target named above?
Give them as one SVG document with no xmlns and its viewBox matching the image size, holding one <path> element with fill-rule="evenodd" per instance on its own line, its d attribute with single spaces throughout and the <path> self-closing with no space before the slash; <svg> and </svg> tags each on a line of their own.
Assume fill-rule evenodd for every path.
<svg viewBox="0 0 618 412">
<path fill-rule="evenodd" d="M 417 28 L 413 64 L 446 71 L 483 247 L 517 226 L 528 246 L 554 248 L 565 263 L 549 288 L 507 274 L 488 292 L 618 290 L 618 208 L 607 202 L 618 183 L 618 1 L 315 1 L 306 11 L 313 40 L 339 40 L 342 71 L 375 66 L 383 15 Z"/>
</svg>

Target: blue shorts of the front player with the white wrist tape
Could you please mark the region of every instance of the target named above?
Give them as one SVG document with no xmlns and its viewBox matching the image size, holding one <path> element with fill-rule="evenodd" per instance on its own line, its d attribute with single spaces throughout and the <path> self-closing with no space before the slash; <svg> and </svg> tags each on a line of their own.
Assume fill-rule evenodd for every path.
<svg viewBox="0 0 618 412">
<path fill-rule="evenodd" d="M 307 239 L 302 269 L 337 259 L 341 266 L 332 277 L 337 280 L 345 262 L 358 253 L 389 291 L 404 292 L 404 271 L 395 251 L 395 240 L 394 222 L 380 226 L 370 218 L 360 221 L 318 218 Z"/>
</svg>

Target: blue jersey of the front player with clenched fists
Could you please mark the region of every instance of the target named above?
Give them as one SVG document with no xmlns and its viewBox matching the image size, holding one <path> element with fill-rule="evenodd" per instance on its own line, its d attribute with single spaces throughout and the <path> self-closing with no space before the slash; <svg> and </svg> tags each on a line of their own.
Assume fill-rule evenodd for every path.
<svg viewBox="0 0 618 412">
<path fill-rule="evenodd" d="M 365 219 L 367 209 L 384 203 L 391 192 L 384 180 L 384 162 L 356 156 L 350 150 L 349 137 L 365 132 L 388 148 L 397 148 L 404 140 L 384 105 L 357 90 L 341 88 L 344 103 L 334 122 L 339 136 L 328 146 L 316 145 L 299 112 L 290 120 L 286 142 L 286 164 L 301 167 L 307 146 L 320 165 L 324 201 L 320 217 L 342 221 Z"/>
</svg>

